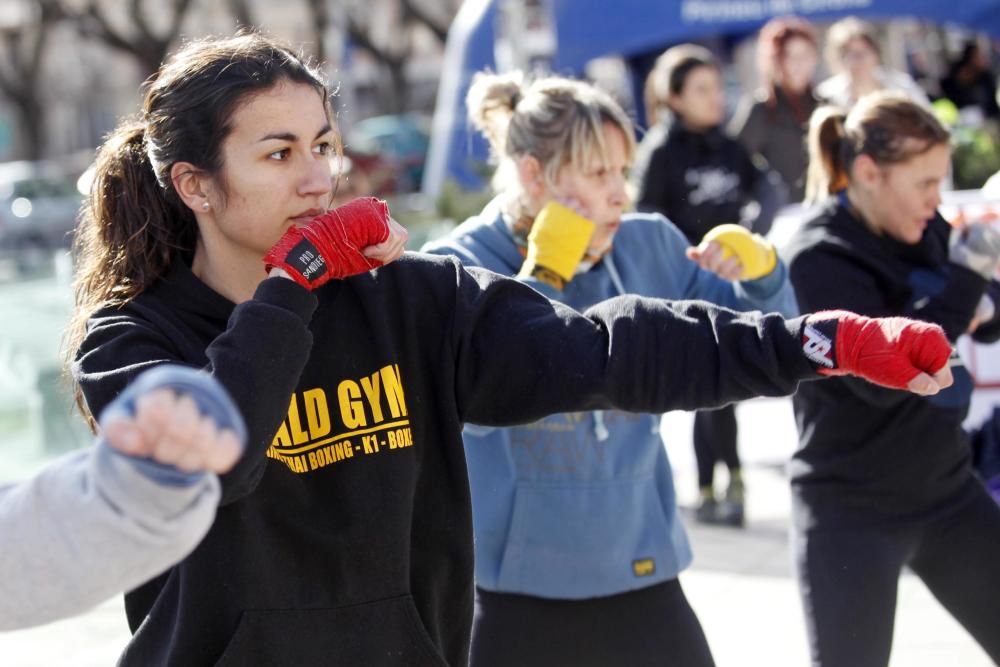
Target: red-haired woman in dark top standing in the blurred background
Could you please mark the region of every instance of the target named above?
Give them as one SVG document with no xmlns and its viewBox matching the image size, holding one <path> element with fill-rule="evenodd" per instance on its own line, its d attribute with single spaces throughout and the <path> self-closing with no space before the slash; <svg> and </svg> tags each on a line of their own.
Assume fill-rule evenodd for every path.
<svg viewBox="0 0 1000 667">
<path fill-rule="evenodd" d="M 760 87 L 737 108 L 729 130 L 781 176 L 788 200 L 806 189 L 806 128 L 816 109 L 813 76 L 819 63 L 816 31 L 794 16 L 768 21 L 757 37 Z"/>
</svg>

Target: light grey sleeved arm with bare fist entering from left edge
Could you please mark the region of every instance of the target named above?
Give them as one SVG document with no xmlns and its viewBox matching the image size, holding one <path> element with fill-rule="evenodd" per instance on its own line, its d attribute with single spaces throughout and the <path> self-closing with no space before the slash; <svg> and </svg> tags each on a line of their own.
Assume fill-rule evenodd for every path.
<svg viewBox="0 0 1000 667">
<path fill-rule="evenodd" d="M 134 588 L 208 531 L 219 501 L 214 473 L 239 458 L 242 420 L 207 375 L 151 373 L 109 407 L 94 447 L 0 487 L 0 630 Z"/>
</svg>

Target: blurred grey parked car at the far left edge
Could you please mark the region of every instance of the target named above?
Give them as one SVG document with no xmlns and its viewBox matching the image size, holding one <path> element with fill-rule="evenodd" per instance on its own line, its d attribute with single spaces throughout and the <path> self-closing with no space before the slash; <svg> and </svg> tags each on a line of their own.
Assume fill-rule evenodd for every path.
<svg viewBox="0 0 1000 667">
<path fill-rule="evenodd" d="M 82 201 L 76 174 L 65 165 L 0 164 L 0 254 L 28 268 L 68 248 Z"/>
</svg>

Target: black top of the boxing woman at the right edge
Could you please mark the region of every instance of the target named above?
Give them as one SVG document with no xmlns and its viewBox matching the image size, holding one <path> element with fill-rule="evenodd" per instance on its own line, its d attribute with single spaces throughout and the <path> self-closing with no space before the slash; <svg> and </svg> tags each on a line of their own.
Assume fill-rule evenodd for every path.
<svg viewBox="0 0 1000 667">
<path fill-rule="evenodd" d="M 785 254 L 799 306 L 936 322 L 954 341 L 988 284 L 948 262 L 949 232 L 937 216 L 920 243 L 903 244 L 876 236 L 841 199 L 831 198 Z M 989 286 L 995 299 L 998 287 Z M 997 319 L 975 334 L 984 341 L 998 337 Z M 796 492 L 813 505 L 798 517 L 802 525 L 924 512 L 965 488 L 969 447 L 961 425 L 972 381 L 964 366 L 953 365 L 952 372 L 955 384 L 933 397 L 856 378 L 802 385 L 793 397 L 799 450 L 791 464 Z"/>
</svg>

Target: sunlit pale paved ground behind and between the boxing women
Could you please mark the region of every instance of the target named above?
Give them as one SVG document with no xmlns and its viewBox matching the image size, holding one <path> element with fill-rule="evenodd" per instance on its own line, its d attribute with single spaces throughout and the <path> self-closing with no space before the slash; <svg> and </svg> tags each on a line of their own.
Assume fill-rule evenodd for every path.
<svg viewBox="0 0 1000 667">
<path fill-rule="evenodd" d="M 793 446 L 786 401 L 740 406 L 740 447 L 747 462 L 745 530 L 689 522 L 694 567 L 682 583 L 705 626 L 719 667 L 807 664 L 803 620 L 788 556 L 788 490 L 782 462 Z M 671 414 L 664 428 L 682 505 L 696 486 L 689 415 Z M 127 638 L 120 600 L 76 619 L 0 634 L 0 664 L 12 667 L 109 665 Z M 979 647 L 923 584 L 903 576 L 892 667 L 986 667 Z"/>
</svg>

